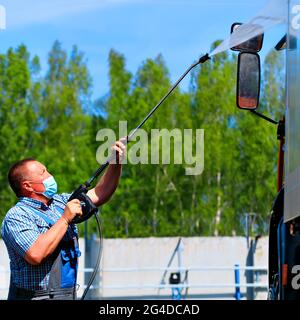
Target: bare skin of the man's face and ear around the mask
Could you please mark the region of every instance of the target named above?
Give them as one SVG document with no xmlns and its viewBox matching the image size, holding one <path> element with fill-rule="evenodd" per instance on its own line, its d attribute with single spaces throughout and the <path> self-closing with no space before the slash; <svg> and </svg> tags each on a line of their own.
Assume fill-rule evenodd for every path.
<svg viewBox="0 0 300 320">
<path fill-rule="evenodd" d="M 47 168 L 38 161 L 31 161 L 24 168 L 26 180 L 23 181 L 23 187 L 27 191 L 44 192 L 43 181 L 51 176 Z"/>
</svg>

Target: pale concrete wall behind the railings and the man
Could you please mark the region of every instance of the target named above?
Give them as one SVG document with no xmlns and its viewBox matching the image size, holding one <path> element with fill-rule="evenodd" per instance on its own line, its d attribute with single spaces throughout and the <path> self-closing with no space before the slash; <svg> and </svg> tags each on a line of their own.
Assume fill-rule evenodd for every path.
<svg viewBox="0 0 300 320">
<path fill-rule="evenodd" d="M 96 287 L 91 290 L 89 297 L 96 298 L 147 298 L 171 299 L 171 289 L 154 288 L 159 285 L 172 253 L 179 238 L 136 238 L 136 239 L 105 239 L 101 260 L 101 273 L 94 281 Z M 254 254 L 247 246 L 243 237 L 193 237 L 182 238 L 178 255 L 175 254 L 170 267 L 176 272 L 178 266 L 192 268 L 188 273 L 188 283 L 191 286 L 187 298 L 190 299 L 234 299 L 234 265 L 246 266 L 247 262 L 255 266 L 267 267 L 268 239 L 260 238 L 256 243 Z M 91 240 L 90 251 L 85 257 L 84 240 L 80 239 L 82 256 L 79 264 L 78 283 L 80 296 L 84 288 L 84 261 L 94 266 L 99 240 Z M 0 240 L 0 298 L 5 299 L 9 284 L 9 261 L 3 241 Z M 88 258 L 88 259 L 87 259 Z M 193 270 L 193 268 L 220 268 L 230 267 L 232 270 Z M 134 272 L 116 272 L 119 269 L 136 268 Z M 141 271 L 142 269 L 147 269 Z M 160 270 L 149 270 L 160 268 Z M 118 269 L 118 270 L 116 270 Z M 91 273 L 89 273 L 90 275 Z M 165 284 L 168 284 L 170 272 L 166 274 Z M 184 276 L 185 274 L 183 274 Z M 248 273 L 249 276 L 249 273 Z M 245 271 L 240 272 L 241 283 L 246 282 Z M 251 277 L 250 277 L 251 278 Z M 267 275 L 259 279 L 267 283 Z M 224 287 L 218 287 L 220 284 Z M 124 288 L 120 288 L 124 286 Z M 146 286 L 146 287 L 145 287 Z M 144 288 L 142 288 L 144 287 Z M 249 291 L 249 289 L 248 289 Z M 246 288 L 241 289 L 243 298 L 246 297 Z M 184 294 L 185 291 L 182 292 Z M 251 292 L 248 292 L 248 297 Z M 266 290 L 255 292 L 252 298 L 266 299 Z"/>
</svg>

